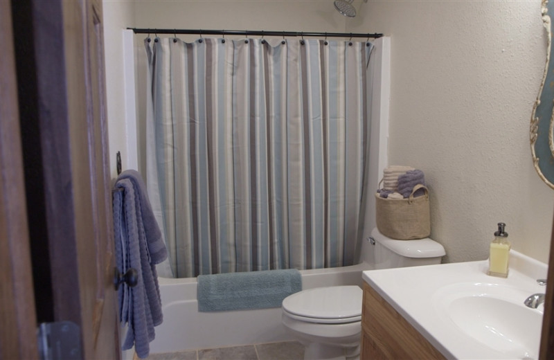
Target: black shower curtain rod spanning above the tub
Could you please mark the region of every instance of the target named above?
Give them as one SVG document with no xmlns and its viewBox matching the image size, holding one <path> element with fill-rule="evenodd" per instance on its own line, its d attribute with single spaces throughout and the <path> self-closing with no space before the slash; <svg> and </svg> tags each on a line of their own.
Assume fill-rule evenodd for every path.
<svg viewBox="0 0 554 360">
<path fill-rule="evenodd" d="M 310 33 L 294 31 L 265 31 L 265 30 L 202 30 L 202 29 L 154 29 L 154 28 L 127 28 L 135 34 L 190 34 L 190 35 L 242 35 L 242 36 L 281 36 L 281 37 L 366 37 L 378 38 L 383 34 L 369 33 Z"/>
</svg>

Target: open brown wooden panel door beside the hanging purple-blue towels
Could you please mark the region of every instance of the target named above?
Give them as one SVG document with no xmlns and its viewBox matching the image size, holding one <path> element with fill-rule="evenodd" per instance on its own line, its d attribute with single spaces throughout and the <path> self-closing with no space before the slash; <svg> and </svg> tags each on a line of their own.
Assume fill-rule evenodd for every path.
<svg viewBox="0 0 554 360">
<path fill-rule="evenodd" d="M 100 0 L 12 2 L 38 322 L 119 359 Z"/>
</svg>

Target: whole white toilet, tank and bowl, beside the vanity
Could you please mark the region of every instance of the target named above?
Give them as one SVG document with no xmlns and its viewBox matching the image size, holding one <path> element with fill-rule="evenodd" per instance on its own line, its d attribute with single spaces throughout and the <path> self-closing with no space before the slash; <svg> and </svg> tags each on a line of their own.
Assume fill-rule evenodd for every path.
<svg viewBox="0 0 554 360">
<path fill-rule="evenodd" d="M 393 240 L 377 228 L 369 240 L 375 269 L 440 264 L 446 254 L 429 238 Z M 283 300 L 283 325 L 305 346 L 305 360 L 359 359 L 362 296 L 358 286 L 349 285 L 306 289 Z"/>
</svg>

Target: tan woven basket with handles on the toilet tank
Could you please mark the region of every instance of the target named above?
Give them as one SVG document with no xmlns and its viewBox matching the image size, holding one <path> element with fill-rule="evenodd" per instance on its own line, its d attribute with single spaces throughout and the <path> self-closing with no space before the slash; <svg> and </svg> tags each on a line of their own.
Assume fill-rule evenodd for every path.
<svg viewBox="0 0 554 360">
<path fill-rule="evenodd" d="M 413 197 L 421 188 L 425 195 Z M 414 186 L 407 199 L 385 199 L 378 193 L 375 198 L 377 228 L 383 235 L 396 240 L 413 240 L 431 234 L 429 190 L 425 186 Z"/>
</svg>

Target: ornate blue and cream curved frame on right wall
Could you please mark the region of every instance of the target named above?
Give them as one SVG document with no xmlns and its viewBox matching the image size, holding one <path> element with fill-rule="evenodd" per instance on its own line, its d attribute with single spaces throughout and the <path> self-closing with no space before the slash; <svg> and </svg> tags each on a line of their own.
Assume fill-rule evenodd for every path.
<svg viewBox="0 0 554 360">
<path fill-rule="evenodd" d="M 554 1 L 542 0 L 542 21 L 546 30 L 546 66 L 533 106 L 530 124 L 531 154 L 539 177 L 554 189 L 554 62 L 552 47 L 553 24 L 548 13 L 554 13 Z M 545 86 L 546 85 L 546 86 Z"/>
</svg>

